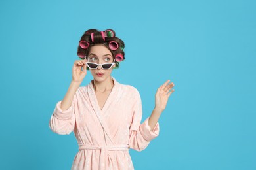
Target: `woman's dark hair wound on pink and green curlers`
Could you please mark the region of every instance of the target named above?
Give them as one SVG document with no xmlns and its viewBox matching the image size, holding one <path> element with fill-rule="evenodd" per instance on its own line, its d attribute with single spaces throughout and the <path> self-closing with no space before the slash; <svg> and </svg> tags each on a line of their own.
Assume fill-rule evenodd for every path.
<svg viewBox="0 0 256 170">
<path fill-rule="evenodd" d="M 77 56 L 81 59 L 87 58 L 91 47 L 98 44 L 102 44 L 110 50 L 115 59 L 116 68 L 118 68 L 119 62 L 125 59 L 125 52 L 123 52 L 125 44 L 121 39 L 116 37 L 115 31 L 112 29 L 106 29 L 105 31 L 89 29 L 85 31 L 79 41 Z"/>
</svg>

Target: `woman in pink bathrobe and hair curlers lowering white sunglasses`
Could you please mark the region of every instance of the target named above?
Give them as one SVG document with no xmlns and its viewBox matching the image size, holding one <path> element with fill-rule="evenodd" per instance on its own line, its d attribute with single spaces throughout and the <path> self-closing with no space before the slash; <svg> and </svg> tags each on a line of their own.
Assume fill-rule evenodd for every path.
<svg viewBox="0 0 256 170">
<path fill-rule="evenodd" d="M 158 119 L 174 90 L 169 80 L 156 92 L 154 110 L 142 124 L 139 92 L 119 84 L 112 69 L 125 59 L 124 43 L 112 29 L 89 29 L 79 41 L 72 82 L 56 104 L 49 126 L 55 133 L 74 131 L 79 152 L 72 169 L 134 169 L 129 148 L 144 150 L 158 136 Z M 80 86 L 91 71 L 93 80 Z"/>
</svg>

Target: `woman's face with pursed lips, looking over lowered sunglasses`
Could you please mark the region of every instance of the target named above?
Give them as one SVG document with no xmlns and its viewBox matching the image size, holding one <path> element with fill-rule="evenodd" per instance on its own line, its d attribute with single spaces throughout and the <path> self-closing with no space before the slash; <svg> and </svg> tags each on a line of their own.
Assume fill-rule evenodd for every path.
<svg viewBox="0 0 256 170">
<path fill-rule="evenodd" d="M 113 63 L 114 57 L 108 48 L 103 45 L 96 45 L 91 47 L 87 61 L 97 64 Z M 115 67 L 115 65 L 113 67 Z M 111 78 L 113 67 L 110 69 L 102 69 L 102 66 L 99 65 L 97 69 L 90 69 L 90 71 L 97 82 L 104 82 L 104 80 Z"/>
</svg>

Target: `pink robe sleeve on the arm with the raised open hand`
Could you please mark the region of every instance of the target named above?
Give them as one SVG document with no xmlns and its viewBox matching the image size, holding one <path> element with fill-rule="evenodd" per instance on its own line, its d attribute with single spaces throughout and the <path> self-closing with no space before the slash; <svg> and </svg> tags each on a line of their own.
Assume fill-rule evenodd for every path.
<svg viewBox="0 0 256 170">
<path fill-rule="evenodd" d="M 133 118 L 130 126 L 129 147 L 141 151 L 148 146 L 152 139 L 158 137 L 159 124 L 157 123 L 152 131 L 148 125 L 148 118 L 140 124 L 142 119 L 142 104 L 138 91 L 136 91 L 135 96 Z"/>
</svg>

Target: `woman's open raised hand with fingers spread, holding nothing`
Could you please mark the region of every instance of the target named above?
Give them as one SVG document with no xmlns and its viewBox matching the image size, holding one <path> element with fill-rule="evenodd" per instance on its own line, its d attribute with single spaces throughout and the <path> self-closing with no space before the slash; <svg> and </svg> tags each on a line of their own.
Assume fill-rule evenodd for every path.
<svg viewBox="0 0 256 170">
<path fill-rule="evenodd" d="M 158 88 L 155 96 L 155 109 L 160 109 L 161 112 L 165 109 L 171 93 L 174 92 L 174 89 L 171 90 L 173 87 L 173 82 L 170 83 L 170 80 L 167 80 L 163 85 L 160 86 L 160 88 Z"/>
</svg>

